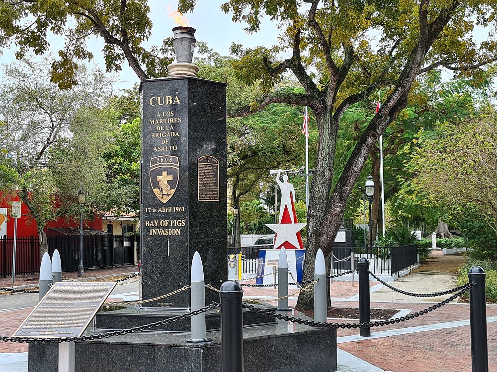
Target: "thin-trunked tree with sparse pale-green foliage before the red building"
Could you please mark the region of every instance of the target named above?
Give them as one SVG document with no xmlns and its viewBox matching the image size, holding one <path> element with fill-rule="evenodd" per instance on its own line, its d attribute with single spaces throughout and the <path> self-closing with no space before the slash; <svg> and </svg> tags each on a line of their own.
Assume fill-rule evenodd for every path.
<svg viewBox="0 0 497 372">
<path fill-rule="evenodd" d="M 61 91 L 46 71 L 49 61 L 5 67 L 0 85 L 0 189 L 19 195 L 36 220 L 41 253 L 45 227 L 58 216 L 80 213 L 79 188 L 87 193 L 85 213 L 119 205 L 126 190 L 106 182 L 101 154 L 109 140 L 99 108 L 110 92 L 100 72 L 78 70 L 82 82 Z"/>
</svg>

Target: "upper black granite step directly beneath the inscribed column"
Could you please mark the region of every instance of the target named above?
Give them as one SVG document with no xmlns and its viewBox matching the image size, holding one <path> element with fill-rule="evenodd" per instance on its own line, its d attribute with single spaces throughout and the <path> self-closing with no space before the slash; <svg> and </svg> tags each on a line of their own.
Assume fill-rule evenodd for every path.
<svg viewBox="0 0 497 372">
<path fill-rule="evenodd" d="M 264 310 L 275 311 L 276 308 L 268 304 L 258 307 Z M 189 309 L 167 309 L 167 308 L 138 308 L 138 307 L 109 307 L 102 309 L 94 318 L 94 329 L 96 331 L 108 331 L 128 329 L 140 325 L 155 323 L 157 321 L 172 318 L 188 312 Z M 221 327 L 221 313 L 219 309 L 210 310 L 205 313 L 205 326 L 208 331 L 219 330 Z M 249 310 L 243 311 L 244 326 L 256 324 L 274 323 L 275 319 Z M 190 320 L 175 321 L 170 324 L 155 327 L 150 332 L 190 332 Z"/>
</svg>

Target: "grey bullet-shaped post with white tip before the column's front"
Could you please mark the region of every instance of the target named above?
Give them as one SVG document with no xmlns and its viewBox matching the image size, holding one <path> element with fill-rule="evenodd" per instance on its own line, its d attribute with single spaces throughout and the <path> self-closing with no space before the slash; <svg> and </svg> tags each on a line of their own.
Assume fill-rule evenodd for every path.
<svg viewBox="0 0 497 372">
<path fill-rule="evenodd" d="M 191 262 L 190 282 L 191 310 L 195 311 L 205 307 L 204 267 L 202 266 L 202 258 L 200 258 L 198 252 L 195 252 Z M 205 312 L 191 317 L 191 338 L 186 341 L 211 341 L 206 337 L 205 333 Z"/>
</svg>

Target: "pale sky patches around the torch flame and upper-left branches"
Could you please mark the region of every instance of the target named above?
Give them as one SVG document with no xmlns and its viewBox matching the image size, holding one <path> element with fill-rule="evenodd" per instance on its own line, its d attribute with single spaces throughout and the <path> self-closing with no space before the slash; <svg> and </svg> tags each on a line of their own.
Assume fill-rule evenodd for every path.
<svg viewBox="0 0 497 372">
<path fill-rule="evenodd" d="M 243 44 L 246 48 L 256 47 L 259 45 L 273 45 L 277 42 L 279 30 L 269 19 L 265 19 L 258 33 L 248 35 L 244 31 L 243 24 L 234 23 L 231 14 L 225 14 L 221 11 L 220 6 L 226 0 L 199 0 L 194 11 L 185 14 L 190 20 L 190 26 L 197 31 L 195 37 L 198 41 L 206 42 L 209 48 L 214 49 L 221 55 L 229 55 L 229 49 L 233 42 Z M 167 13 L 167 5 L 171 9 L 176 9 L 177 0 L 149 0 L 150 14 L 149 17 L 153 23 L 152 36 L 144 44 L 145 47 L 150 45 L 161 45 L 166 37 L 172 36 L 171 29 L 175 27 L 174 20 Z M 55 35 L 49 37 L 53 55 L 63 48 L 64 40 Z M 104 46 L 102 38 L 92 37 L 88 43 L 88 49 L 93 53 L 93 62 L 102 70 L 105 70 L 105 63 L 101 50 Z M 10 63 L 15 61 L 15 48 L 4 50 L 0 56 L 0 63 Z M 127 62 L 123 63 L 122 71 L 115 75 L 114 91 L 119 89 L 131 88 L 139 79 L 134 71 L 128 66 Z"/>
</svg>

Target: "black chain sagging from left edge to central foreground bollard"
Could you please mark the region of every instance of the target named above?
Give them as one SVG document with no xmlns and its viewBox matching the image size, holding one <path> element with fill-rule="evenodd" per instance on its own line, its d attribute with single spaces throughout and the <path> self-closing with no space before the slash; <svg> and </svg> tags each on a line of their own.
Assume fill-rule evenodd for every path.
<svg viewBox="0 0 497 372">
<path fill-rule="evenodd" d="M 202 312 L 206 312 L 211 309 L 216 309 L 219 308 L 219 304 L 217 303 L 212 303 L 206 307 L 200 308 L 195 311 L 187 312 L 181 315 L 174 316 L 169 319 L 164 319 L 160 321 L 156 321 L 154 323 L 150 324 L 144 324 L 140 325 L 138 327 L 133 327 L 129 329 L 123 329 L 119 331 L 113 331 L 113 332 L 107 332 L 107 333 L 97 333 L 93 335 L 88 335 L 88 336 L 81 336 L 81 337 L 54 337 L 54 338 L 49 338 L 49 337 L 43 337 L 43 338 L 37 338 L 37 337 L 7 337 L 7 336 L 1 336 L 0 341 L 5 341 L 5 342 L 19 342 L 19 343 L 61 343 L 61 342 L 71 342 L 71 341 L 90 341 L 90 340 L 96 340 L 96 339 L 101 339 L 101 338 L 107 338 L 107 337 L 114 337 L 114 336 L 122 336 L 125 334 L 129 333 L 135 333 L 135 332 L 140 332 L 144 331 L 147 329 L 159 327 L 161 325 L 166 325 L 170 323 L 174 323 L 175 321 L 180 321 L 184 319 L 191 318 L 194 315 L 201 314 Z"/>
</svg>

